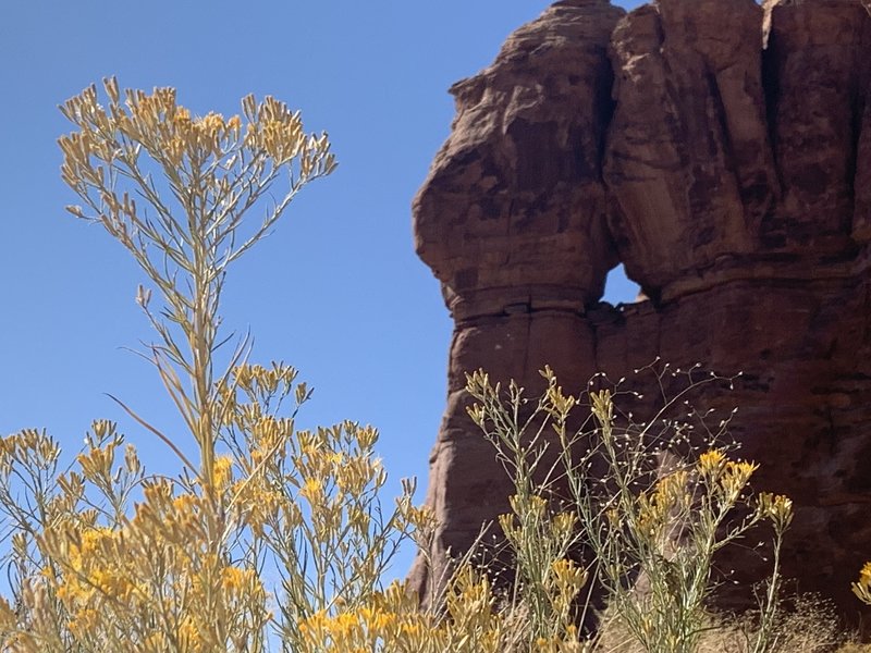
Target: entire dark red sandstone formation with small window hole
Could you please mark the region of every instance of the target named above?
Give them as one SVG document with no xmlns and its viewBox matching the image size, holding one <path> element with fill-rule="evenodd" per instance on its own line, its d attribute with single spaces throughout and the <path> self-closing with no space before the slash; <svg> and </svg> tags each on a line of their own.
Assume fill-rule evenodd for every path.
<svg viewBox="0 0 871 653">
<path fill-rule="evenodd" d="M 849 584 L 871 557 L 868 2 L 625 14 L 564 0 L 452 91 L 453 133 L 414 206 L 456 322 L 427 500 L 437 564 L 416 564 L 416 587 L 507 509 L 466 372 L 533 391 L 549 364 L 580 389 L 660 356 L 744 371 L 701 401 L 740 407 L 757 488 L 795 501 L 785 574 L 857 617 Z M 617 262 L 650 300 L 600 304 Z"/>
</svg>

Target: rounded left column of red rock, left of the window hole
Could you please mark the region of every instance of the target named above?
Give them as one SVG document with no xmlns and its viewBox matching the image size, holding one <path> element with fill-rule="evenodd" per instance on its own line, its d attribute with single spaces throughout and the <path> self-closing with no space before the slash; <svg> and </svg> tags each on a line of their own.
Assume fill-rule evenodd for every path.
<svg viewBox="0 0 871 653">
<path fill-rule="evenodd" d="M 434 569 L 507 509 L 508 479 L 465 411 L 465 372 L 532 379 L 545 361 L 563 382 L 594 371 L 581 308 L 617 263 L 608 233 L 602 151 L 613 111 L 611 33 L 623 10 L 557 2 L 520 28 L 495 63 L 452 89 L 457 118 L 416 199 L 417 249 L 457 321 L 447 411 L 432 457 L 429 504 L 443 520 Z M 596 252 L 591 256 L 591 252 Z"/>
</svg>

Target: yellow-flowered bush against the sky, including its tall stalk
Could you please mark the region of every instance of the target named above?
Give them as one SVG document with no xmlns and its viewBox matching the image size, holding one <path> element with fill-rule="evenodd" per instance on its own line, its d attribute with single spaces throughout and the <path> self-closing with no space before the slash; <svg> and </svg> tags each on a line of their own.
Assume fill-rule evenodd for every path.
<svg viewBox="0 0 871 653">
<path fill-rule="evenodd" d="M 307 625 L 375 605 L 398 542 L 428 519 L 412 506 L 412 482 L 393 508 L 381 504 L 375 429 L 300 431 L 310 390 L 293 368 L 249 362 L 247 337 L 219 356 L 228 269 L 333 170 L 329 140 L 269 97 L 246 97 L 243 114 L 224 119 L 192 115 L 173 89 L 122 93 L 107 79 L 105 91 L 105 103 L 90 87 L 62 107 L 75 126 L 60 139 L 62 176 L 84 204 L 69 210 L 101 224 L 145 272 L 136 298 L 158 340 L 144 356 L 189 440 L 119 399 L 180 473 L 147 472 L 108 421 L 69 468 L 45 432 L 0 440 L 11 533 L 0 649 L 310 649 Z"/>
</svg>

